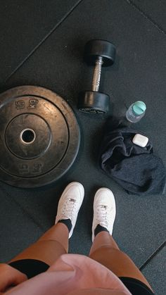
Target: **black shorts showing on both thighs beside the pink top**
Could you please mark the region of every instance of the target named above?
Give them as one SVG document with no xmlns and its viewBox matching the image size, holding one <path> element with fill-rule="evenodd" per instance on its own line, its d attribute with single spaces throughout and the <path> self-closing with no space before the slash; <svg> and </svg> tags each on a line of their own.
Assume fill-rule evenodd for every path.
<svg viewBox="0 0 166 295">
<path fill-rule="evenodd" d="M 39 275 L 41 272 L 46 272 L 49 265 L 43 261 L 37 261 L 34 259 L 23 259 L 20 261 L 13 261 L 9 263 L 16 270 L 25 273 L 28 279 Z M 151 289 L 143 284 L 143 282 L 133 279 L 132 277 L 120 277 L 120 280 L 127 287 L 127 289 L 132 293 L 132 295 L 153 295 L 154 293 Z"/>
</svg>

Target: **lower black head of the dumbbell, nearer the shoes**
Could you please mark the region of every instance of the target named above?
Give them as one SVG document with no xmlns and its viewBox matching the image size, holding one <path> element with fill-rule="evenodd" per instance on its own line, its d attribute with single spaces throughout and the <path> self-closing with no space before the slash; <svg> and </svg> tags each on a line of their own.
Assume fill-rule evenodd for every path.
<svg viewBox="0 0 166 295">
<path fill-rule="evenodd" d="M 110 96 L 101 92 L 81 92 L 79 94 L 78 109 L 85 113 L 108 113 L 110 110 Z"/>
</svg>

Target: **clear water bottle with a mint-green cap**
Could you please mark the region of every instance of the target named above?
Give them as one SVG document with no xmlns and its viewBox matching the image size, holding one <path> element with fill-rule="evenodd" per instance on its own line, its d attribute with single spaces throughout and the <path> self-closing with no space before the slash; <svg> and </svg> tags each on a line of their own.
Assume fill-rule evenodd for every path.
<svg viewBox="0 0 166 295">
<path fill-rule="evenodd" d="M 146 104 L 143 101 L 136 101 L 129 106 L 126 118 L 129 122 L 137 123 L 146 113 Z"/>
</svg>

